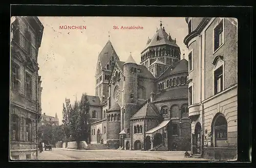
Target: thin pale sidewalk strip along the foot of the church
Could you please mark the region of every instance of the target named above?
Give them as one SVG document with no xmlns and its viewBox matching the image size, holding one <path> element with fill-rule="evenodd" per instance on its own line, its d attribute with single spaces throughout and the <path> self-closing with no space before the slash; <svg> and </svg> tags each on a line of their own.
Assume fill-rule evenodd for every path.
<svg viewBox="0 0 256 168">
<path fill-rule="evenodd" d="M 79 152 L 127 152 L 130 150 L 117 150 L 117 149 L 99 149 L 99 150 L 77 150 L 77 149 L 69 149 L 69 148 L 56 148 L 56 149 L 61 149 L 65 151 L 79 151 Z M 139 150 L 134 150 L 130 152 L 142 152 L 142 153 L 185 153 L 186 151 L 139 151 Z M 189 151 L 188 151 L 189 153 Z"/>
</svg>

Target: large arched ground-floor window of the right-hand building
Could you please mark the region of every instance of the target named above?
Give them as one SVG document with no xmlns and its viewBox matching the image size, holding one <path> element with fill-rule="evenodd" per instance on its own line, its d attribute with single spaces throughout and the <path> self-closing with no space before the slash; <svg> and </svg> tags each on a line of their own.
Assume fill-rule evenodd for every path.
<svg viewBox="0 0 256 168">
<path fill-rule="evenodd" d="M 227 120 L 222 113 L 217 113 L 212 121 L 215 147 L 227 147 Z"/>
</svg>

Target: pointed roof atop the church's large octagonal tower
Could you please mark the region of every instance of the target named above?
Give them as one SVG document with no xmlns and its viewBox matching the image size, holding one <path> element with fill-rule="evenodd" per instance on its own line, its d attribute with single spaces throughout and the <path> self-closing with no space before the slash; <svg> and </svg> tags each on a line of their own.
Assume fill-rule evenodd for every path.
<svg viewBox="0 0 256 168">
<path fill-rule="evenodd" d="M 163 30 L 163 28 L 160 27 L 160 29 L 158 29 L 156 34 L 153 36 L 153 38 L 150 41 L 150 43 L 148 45 L 146 45 L 146 48 L 150 47 L 150 46 L 162 45 L 162 44 L 168 44 L 168 45 L 173 45 L 173 46 L 177 46 L 178 47 L 178 45 L 176 44 L 176 40 L 173 40 L 170 37 L 170 35 L 168 35 Z"/>
</svg>

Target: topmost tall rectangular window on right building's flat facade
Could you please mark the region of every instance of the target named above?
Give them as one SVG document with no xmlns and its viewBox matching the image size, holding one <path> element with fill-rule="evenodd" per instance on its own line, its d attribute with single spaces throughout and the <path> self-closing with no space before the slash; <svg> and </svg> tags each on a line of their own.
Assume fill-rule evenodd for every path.
<svg viewBox="0 0 256 168">
<path fill-rule="evenodd" d="M 223 19 L 214 29 L 214 51 L 224 43 Z"/>
</svg>

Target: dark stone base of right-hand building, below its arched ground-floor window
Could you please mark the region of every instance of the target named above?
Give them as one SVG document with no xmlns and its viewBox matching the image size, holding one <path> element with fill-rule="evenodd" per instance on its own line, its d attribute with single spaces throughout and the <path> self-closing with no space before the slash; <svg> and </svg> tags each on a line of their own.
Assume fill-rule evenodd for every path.
<svg viewBox="0 0 256 168">
<path fill-rule="evenodd" d="M 237 148 L 203 148 L 203 158 L 229 160 L 237 156 Z"/>
</svg>

